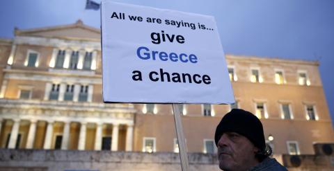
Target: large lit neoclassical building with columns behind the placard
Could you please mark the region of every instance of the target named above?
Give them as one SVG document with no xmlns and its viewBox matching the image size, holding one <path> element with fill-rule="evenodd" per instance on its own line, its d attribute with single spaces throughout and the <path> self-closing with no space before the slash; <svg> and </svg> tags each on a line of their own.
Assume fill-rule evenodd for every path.
<svg viewBox="0 0 334 171">
<path fill-rule="evenodd" d="M 215 153 L 232 108 L 253 112 L 275 156 L 334 143 L 319 63 L 226 55 L 237 102 L 180 105 L 189 152 Z M 178 152 L 171 105 L 104 104 L 100 30 L 75 24 L 15 29 L 0 39 L 0 147 Z"/>
</svg>

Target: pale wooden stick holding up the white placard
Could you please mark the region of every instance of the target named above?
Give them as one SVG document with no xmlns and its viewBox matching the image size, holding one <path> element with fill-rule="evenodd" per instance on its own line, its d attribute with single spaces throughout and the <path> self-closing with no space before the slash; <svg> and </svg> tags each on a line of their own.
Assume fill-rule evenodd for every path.
<svg viewBox="0 0 334 171">
<path fill-rule="evenodd" d="M 181 168 L 182 168 L 182 171 L 188 171 L 189 161 L 188 161 L 188 154 L 186 154 L 186 143 L 184 141 L 181 111 L 180 111 L 179 104 L 172 104 L 172 105 L 173 105 L 175 129 L 176 129 L 176 134 L 177 134 L 177 144 L 179 145 Z"/>
</svg>

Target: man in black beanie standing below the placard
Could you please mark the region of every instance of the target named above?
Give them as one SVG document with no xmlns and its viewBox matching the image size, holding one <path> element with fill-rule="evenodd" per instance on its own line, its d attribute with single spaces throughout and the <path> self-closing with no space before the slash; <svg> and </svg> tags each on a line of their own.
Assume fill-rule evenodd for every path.
<svg viewBox="0 0 334 171">
<path fill-rule="evenodd" d="M 287 170 L 271 159 L 266 147 L 261 121 L 249 111 L 232 109 L 216 128 L 214 141 L 218 147 L 221 170 Z"/>
</svg>

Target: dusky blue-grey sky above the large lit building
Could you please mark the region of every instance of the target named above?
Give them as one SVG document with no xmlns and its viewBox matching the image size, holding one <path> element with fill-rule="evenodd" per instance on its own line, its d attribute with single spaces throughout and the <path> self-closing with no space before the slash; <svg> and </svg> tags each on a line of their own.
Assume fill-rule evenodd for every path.
<svg viewBox="0 0 334 171">
<path fill-rule="evenodd" d="M 100 3 L 100 0 L 95 0 Z M 334 118 L 333 0 L 119 0 L 155 8 L 212 15 L 225 53 L 283 59 L 319 60 L 319 70 Z M 86 0 L 1 1 L 0 37 L 13 38 L 15 27 L 84 24 L 100 28 L 100 10 L 85 10 Z"/>
</svg>

